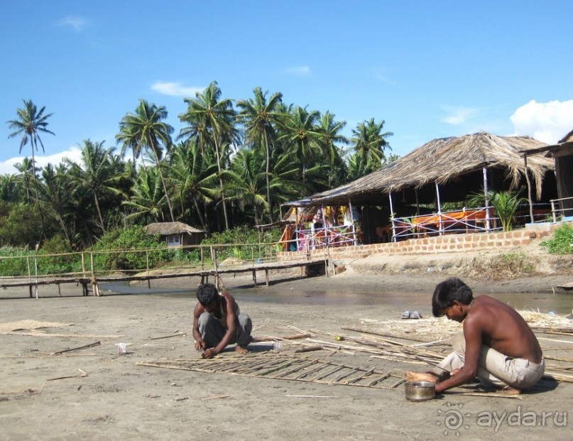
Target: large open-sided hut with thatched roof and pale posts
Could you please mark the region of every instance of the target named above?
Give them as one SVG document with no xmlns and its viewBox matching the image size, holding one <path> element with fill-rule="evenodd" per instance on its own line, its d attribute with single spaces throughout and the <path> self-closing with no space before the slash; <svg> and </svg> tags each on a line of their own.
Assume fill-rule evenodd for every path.
<svg viewBox="0 0 573 441">
<path fill-rule="evenodd" d="M 524 165 L 520 157 L 522 151 L 543 146 L 525 136 L 486 132 L 438 138 L 388 167 L 312 195 L 309 203 L 360 207 L 361 239 L 369 244 L 380 241 L 381 230 L 388 234 L 394 217 L 440 214 L 444 202 L 463 202 L 488 190 L 515 190 L 525 187 L 526 178 L 531 179 L 535 200 L 548 202 L 557 194 L 552 160 L 537 156 Z"/>
</svg>

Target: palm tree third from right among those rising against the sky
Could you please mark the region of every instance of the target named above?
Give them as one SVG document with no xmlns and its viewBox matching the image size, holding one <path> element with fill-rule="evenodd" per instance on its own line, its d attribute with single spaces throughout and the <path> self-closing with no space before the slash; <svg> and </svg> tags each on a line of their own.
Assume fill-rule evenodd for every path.
<svg viewBox="0 0 573 441">
<path fill-rule="evenodd" d="M 295 107 L 286 120 L 285 134 L 281 137 L 290 143 L 290 150 L 300 161 L 303 187 L 306 186 L 307 164 L 314 157 L 313 149 L 317 146 L 319 134 L 315 122 L 319 115 L 318 111 Z"/>
</svg>

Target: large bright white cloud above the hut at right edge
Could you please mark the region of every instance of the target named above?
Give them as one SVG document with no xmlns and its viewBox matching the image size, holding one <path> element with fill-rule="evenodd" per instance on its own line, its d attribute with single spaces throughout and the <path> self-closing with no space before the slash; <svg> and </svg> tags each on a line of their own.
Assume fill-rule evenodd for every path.
<svg viewBox="0 0 573 441">
<path fill-rule="evenodd" d="M 518 107 L 510 117 L 515 133 L 555 144 L 573 129 L 573 99 L 536 102 Z"/>
</svg>

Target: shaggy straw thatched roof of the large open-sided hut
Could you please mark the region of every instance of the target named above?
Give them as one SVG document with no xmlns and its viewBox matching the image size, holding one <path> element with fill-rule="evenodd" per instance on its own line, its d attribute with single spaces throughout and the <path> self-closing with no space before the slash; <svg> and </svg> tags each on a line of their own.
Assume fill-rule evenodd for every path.
<svg viewBox="0 0 573 441">
<path fill-rule="evenodd" d="M 525 168 L 519 152 L 545 145 L 525 136 L 496 136 L 485 132 L 434 139 L 386 168 L 352 183 L 313 195 L 310 200 L 312 203 L 345 202 L 381 192 L 420 188 L 435 182 L 442 185 L 484 167 L 504 168 L 513 185 L 516 185 Z M 540 188 L 545 172 L 554 170 L 555 166 L 552 160 L 537 156 L 529 160 L 528 168 L 537 188 Z"/>
</svg>

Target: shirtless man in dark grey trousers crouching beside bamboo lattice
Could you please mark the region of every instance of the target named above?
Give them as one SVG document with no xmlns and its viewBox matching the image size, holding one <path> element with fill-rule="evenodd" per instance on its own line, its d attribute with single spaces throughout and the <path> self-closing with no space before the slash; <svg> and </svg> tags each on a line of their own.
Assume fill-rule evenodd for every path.
<svg viewBox="0 0 573 441">
<path fill-rule="evenodd" d="M 233 296 L 229 293 L 219 295 L 215 285 L 204 283 L 197 288 L 197 300 L 193 311 L 193 337 L 195 349 L 203 350 L 201 356 L 210 359 L 233 343 L 236 343 L 236 352 L 248 352 L 246 347 L 253 341 L 251 317 L 241 314 Z"/>
</svg>

